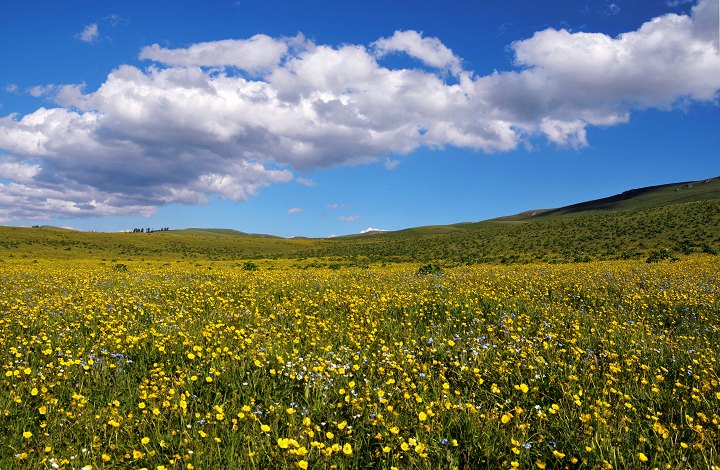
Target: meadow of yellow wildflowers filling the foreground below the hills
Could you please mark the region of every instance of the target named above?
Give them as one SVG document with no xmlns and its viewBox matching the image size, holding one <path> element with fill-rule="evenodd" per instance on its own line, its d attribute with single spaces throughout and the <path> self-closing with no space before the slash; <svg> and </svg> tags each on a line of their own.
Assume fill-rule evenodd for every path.
<svg viewBox="0 0 720 470">
<path fill-rule="evenodd" d="M 709 468 L 720 262 L 0 264 L 0 468 Z"/>
</svg>

